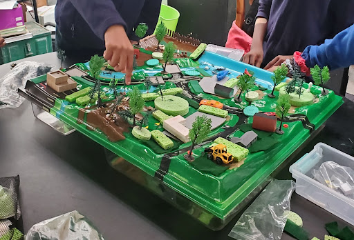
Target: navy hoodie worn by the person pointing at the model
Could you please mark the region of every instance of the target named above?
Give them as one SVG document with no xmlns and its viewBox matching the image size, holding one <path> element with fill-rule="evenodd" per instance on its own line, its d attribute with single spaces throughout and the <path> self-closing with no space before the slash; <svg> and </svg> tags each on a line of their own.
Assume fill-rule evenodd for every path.
<svg viewBox="0 0 354 240">
<path fill-rule="evenodd" d="M 62 50 L 104 50 L 104 32 L 115 24 L 124 26 L 129 39 L 139 23 L 152 34 L 161 0 L 58 0 L 55 7 L 57 46 Z M 101 53 L 101 54 L 102 54 Z"/>
</svg>

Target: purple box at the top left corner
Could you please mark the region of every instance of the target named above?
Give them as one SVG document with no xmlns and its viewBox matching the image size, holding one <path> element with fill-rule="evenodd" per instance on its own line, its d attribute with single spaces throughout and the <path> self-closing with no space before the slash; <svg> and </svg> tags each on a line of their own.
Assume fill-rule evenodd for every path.
<svg viewBox="0 0 354 240">
<path fill-rule="evenodd" d="M 12 10 L 0 10 L 0 30 L 15 28 L 24 25 L 24 13 L 22 6 L 18 4 L 17 8 Z"/>
</svg>

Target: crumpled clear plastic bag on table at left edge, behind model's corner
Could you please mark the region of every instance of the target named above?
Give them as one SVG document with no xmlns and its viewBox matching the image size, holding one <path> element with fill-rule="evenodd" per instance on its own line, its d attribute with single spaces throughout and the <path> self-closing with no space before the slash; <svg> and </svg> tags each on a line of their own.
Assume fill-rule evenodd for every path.
<svg viewBox="0 0 354 240">
<path fill-rule="evenodd" d="M 24 88 L 29 79 L 41 76 L 53 70 L 54 66 L 47 63 L 24 61 L 0 79 L 0 109 L 17 108 L 24 101 L 17 93 L 18 88 Z"/>
</svg>

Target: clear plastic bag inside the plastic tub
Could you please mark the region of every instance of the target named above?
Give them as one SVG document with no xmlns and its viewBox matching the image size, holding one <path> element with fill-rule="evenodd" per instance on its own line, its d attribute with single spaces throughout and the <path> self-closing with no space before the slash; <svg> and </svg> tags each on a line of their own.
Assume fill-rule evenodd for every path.
<svg viewBox="0 0 354 240">
<path fill-rule="evenodd" d="M 318 170 L 313 170 L 313 177 L 336 192 L 354 199 L 354 170 L 340 166 L 334 161 L 326 161 Z"/>
</svg>

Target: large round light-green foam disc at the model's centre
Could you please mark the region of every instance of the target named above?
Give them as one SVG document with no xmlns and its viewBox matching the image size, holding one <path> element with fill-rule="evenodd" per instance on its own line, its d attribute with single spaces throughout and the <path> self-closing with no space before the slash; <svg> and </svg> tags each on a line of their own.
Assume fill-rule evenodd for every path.
<svg viewBox="0 0 354 240">
<path fill-rule="evenodd" d="M 165 112 L 167 115 L 184 116 L 189 112 L 189 103 L 185 99 L 173 95 L 158 97 L 154 101 L 155 108 Z"/>
</svg>

